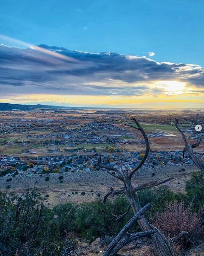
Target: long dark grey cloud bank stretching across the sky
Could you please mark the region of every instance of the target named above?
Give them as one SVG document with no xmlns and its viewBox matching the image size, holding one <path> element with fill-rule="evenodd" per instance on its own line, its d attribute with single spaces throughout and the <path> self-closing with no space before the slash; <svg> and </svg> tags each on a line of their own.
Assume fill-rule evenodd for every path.
<svg viewBox="0 0 204 256">
<path fill-rule="evenodd" d="M 113 52 L 79 52 L 63 47 L 43 49 L 69 57 L 59 59 L 34 49 L 0 45 L 0 90 L 14 93 L 75 95 L 153 95 L 163 92 L 144 83 L 177 80 L 204 87 L 204 69 L 193 64 L 158 63 Z M 74 61 L 72 61 L 74 60 Z M 133 83 L 136 85 L 134 86 Z"/>
</svg>

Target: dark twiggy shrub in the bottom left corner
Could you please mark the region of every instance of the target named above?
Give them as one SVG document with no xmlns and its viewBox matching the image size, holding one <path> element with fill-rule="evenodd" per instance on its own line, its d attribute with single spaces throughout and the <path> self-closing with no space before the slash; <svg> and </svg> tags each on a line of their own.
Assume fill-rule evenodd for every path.
<svg viewBox="0 0 204 256">
<path fill-rule="evenodd" d="M 43 202 L 37 202 L 38 197 L 35 190 L 27 190 L 20 197 L 0 194 L 0 252 L 3 255 L 16 255 L 15 252 L 28 255 L 26 244 L 36 245 L 43 210 Z"/>
</svg>

